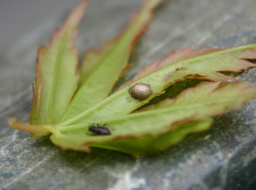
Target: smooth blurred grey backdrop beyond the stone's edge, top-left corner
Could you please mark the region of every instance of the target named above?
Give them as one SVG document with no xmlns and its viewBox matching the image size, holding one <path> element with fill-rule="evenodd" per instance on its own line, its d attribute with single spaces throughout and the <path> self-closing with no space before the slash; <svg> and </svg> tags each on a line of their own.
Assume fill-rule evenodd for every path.
<svg viewBox="0 0 256 190">
<path fill-rule="evenodd" d="M 10 0 L 0 1 L 0 51 L 14 44 L 40 23 L 60 16 L 79 0 Z"/>
</svg>

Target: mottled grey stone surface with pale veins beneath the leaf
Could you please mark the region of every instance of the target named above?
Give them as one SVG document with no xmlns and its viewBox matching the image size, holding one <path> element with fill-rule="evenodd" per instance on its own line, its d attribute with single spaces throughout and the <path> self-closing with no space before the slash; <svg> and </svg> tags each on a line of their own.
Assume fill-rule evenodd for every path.
<svg viewBox="0 0 256 190">
<path fill-rule="evenodd" d="M 12 6 L 0 1 L 0 7 L 2 4 L 10 9 L 4 16 L 0 12 L 2 23 L 11 22 L 14 12 L 19 11 L 36 20 L 31 24 L 19 18 L 26 25 L 20 25 L 22 32 L 19 26 L 12 31 L 10 23 L 10 31 L 8 24 L 2 30 L 1 24 L 1 31 L 7 31 L 5 35 L 1 33 L 1 38 L 10 40 L 0 44 L 0 189 L 255 189 L 256 99 L 236 112 L 216 117 L 211 130 L 189 135 L 166 151 L 138 159 L 100 148 L 93 148 L 92 154 L 63 151 L 48 137 L 33 140 L 28 133 L 9 128 L 6 120 L 11 116 L 28 122 L 37 48 L 48 44 L 53 30 L 79 1 L 44 2 L 51 13 L 41 4 L 34 4 L 32 11 L 29 1 Z M 114 36 L 141 3 L 142 0 L 91 1 L 77 40 L 81 55 Z M 131 58 L 134 67 L 122 81 L 181 48 L 255 44 L 255 10 L 255 0 L 165 1 L 157 9 L 148 33 L 136 45 Z M 22 14 L 18 17 L 22 18 Z M 238 78 L 256 86 L 255 70 L 243 72 Z"/>
</svg>

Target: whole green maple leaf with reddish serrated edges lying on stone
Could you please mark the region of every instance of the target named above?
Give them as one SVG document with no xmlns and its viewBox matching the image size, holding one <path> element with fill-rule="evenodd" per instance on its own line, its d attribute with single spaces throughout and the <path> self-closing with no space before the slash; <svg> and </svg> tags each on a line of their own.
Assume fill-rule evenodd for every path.
<svg viewBox="0 0 256 190">
<path fill-rule="evenodd" d="M 31 132 L 32 138 L 51 134 L 52 142 L 64 149 L 91 152 L 90 146 L 96 146 L 132 155 L 148 154 L 179 142 L 188 133 L 208 129 L 213 116 L 233 111 L 256 96 L 256 88 L 246 88 L 245 82 L 224 82 L 232 78 L 220 73 L 255 67 L 248 59 L 256 59 L 256 45 L 172 52 L 109 95 L 129 67 L 133 45 L 160 0 L 148 0 L 124 31 L 106 42 L 101 51 L 86 52 L 82 67 L 77 68 L 73 43 L 86 3 L 78 5 L 54 32 L 49 48 L 39 48 L 30 124 L 10 118 L 12 128 Z M 214 82 L 200 83 L 175 100 L 165 99 L 134 111 L 185 78 Z M 143 101 L 129 99 L 130 86 L 138 82 L 150 84 L 152 89 L 152 95 Z M 111 134 L 92 135 L 90 123 L 107 123 Z"/>
</svg>

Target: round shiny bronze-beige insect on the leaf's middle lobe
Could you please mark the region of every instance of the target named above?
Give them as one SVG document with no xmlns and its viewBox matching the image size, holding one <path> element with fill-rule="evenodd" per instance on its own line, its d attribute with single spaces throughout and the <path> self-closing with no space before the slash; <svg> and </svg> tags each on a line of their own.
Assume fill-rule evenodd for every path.
<svg viewBox="0 0 256 190">
<path fill-rule="evenodd" d="M 152 94 L 152 91 L 149 84 L 136 83 L 131 88 L 129 88 L 129 93 L 132 97 L 141 101 L 148 98 Z"/>
</svg>

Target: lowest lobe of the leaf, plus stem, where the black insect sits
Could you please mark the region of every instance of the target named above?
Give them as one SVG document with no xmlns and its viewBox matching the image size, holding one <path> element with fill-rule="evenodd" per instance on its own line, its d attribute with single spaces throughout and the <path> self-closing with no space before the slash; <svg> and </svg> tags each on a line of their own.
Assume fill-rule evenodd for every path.
<svg viewBox="0 0 256 190">
<path fill-rule="evenodd" d="M 246 88 L 248 84 L 200 83 L 183 91 L 175 100 L 166 99 L 136 113 L 105 120 L 104 123 L 111 126 L 111 135 L 92 136 L 87 123 L 38 125 L 35 128 L 51 132 L 52 142 L 64 149 L 91 152 L 89 146 L 96 146 L 132 155 L 148 154 L 179 142 L 188 133 L 208 129 L 212 116 L 239 108 L 256 96 L 256 88 Z M 31 131 L 28 124 L 14 119 L 9 122 L 16 128 Z"/>
</svg>

